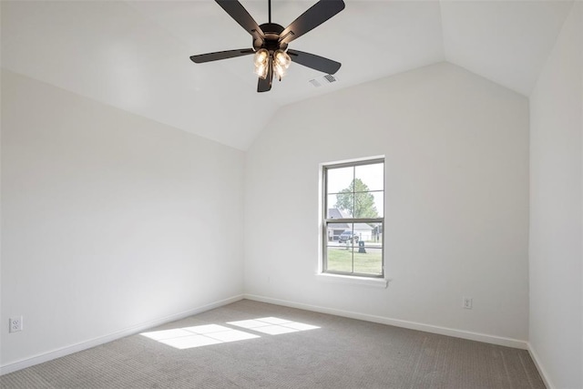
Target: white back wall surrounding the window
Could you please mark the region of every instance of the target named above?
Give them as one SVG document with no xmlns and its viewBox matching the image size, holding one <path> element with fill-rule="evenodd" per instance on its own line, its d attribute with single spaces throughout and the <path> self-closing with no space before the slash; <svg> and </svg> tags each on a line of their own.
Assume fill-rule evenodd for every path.
<svg viewBox="0 0 583 389">
<path fill-rule="evenodd" d="M 393 281 L 320 282 L 319 164 L 378 155 Z M 250 295 L 527 340 L 526 97 L 437 64 L 282 108 L 246 161 Z"/>
</svg>

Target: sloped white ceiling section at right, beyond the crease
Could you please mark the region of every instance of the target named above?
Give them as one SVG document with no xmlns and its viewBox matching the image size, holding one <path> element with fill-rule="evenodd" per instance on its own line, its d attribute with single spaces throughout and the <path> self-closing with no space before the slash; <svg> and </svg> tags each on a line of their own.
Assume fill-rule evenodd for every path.
<svg viewBox="0 0 583 389">
<path fill-rule="evenodd" d="M 445 59 L 528 96 L 572 1 L 442 1 Z"/>
</svg>

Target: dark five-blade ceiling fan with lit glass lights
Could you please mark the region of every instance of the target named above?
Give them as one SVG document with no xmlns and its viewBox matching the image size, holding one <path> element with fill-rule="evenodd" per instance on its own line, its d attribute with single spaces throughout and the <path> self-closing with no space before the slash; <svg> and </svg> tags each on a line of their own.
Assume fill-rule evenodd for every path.
<svg viewBox="0 0 583 389">
<path fill-rule="evenodd" d="M 252 48 L 190 56 L 192 62 L 202 64 L 204 62 L 254 54 L 255 73 L 259 76 L 258 92 L 271 90 L 273 77 L 277 77 L 281 81 L 281 77 L 285 75 L 291 62 L 331 75 L 336 73 L 342 66 L 340 62 L 332 61 L 332 59 L 324 58 L 323 56 L 288 49 L 288 44 L 342 11 L 344 9 L 343 0 L 320 0 L 285 28 L 276 23 L 271 23 L 271 0 L 268 0 L 269 22 L 261 26 L 257 25 L 257 22 L 238 0 L 215 1 L 230 17 L 235 19 L 240 26 L 251 34 L 253 37 Z"/>
</svg>

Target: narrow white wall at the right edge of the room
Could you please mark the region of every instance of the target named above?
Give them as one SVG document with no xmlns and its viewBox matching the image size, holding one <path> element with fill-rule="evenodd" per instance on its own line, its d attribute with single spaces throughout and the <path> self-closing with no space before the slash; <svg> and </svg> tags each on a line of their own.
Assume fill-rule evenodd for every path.
<svg viewBox="0 0 583 389">
<path fill-rule="evenodd" d="M 529 342 L 557 388 L 583 387 L 583 4 L 530 97 Z"/>
</svg>

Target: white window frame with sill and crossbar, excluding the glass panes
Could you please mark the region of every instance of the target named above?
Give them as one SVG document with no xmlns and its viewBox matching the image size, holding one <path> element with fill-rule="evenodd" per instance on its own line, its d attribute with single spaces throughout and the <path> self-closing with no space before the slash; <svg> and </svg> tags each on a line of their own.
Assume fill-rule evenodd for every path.
<svg viewBox="0 0 583 389">
<path fill-rule="evenodd" d="M 324 276 L 322 277 L 323 281 L 327 282 L 341 282 L 341 283 L 356 283 L 356 284 L 363 284 L 363 285 L 371 285 L 371 286 L 383 286 L 386 287 L 388 284 L 388 280 L 386 277 L 385 271 L 385 258 L 384 258 L 384 211 L 383 217 L 380 218 L 346 218 L 346 219 L 328 219 L 328 182 L 327 182 L 327 172 L 329 169 L 339 169 L 339 168 L 348 168 L 348 167 L 356 167 L 356 166 L 363 166 L 363 165 L 372 165 L 377 163 L 383 163 L 383 169 L 385 169 L 385 160 L 384 156 L 380 157 L 371 157 L 367 159 L 353 159 L 353 160 L 345 160 L 339 162 L 330 162 L 330 163 L 323 163 L 321 165 L 321 255 L 320 263 L 318 266 L 318 275 Z M 385 184 L 383 178 L 383 199 L 385 199 Z M 385 208 L 385 207 L 383 207 Z M 329 223 L 380 223 L 383 228 L 383 235 L 381 239 L 382 249 L 381 249 L 381 258 L 382 258 L 382 271 L 381 274 L 367 274 L 367 273 L 355 273 L 355 272 L 347 272 L 347 271 L 329 271 L 327 269 L 327 256 L 328 256 L 328 224 Z"/>
</svg>

